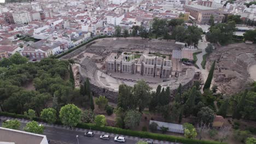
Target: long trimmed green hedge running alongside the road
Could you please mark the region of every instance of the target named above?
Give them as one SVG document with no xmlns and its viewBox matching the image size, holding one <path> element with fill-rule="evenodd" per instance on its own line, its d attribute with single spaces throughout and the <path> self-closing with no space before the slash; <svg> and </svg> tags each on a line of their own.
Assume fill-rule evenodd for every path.
<svg viewBox="0 0 256 144">
<path fill-rule="evenodd" d="M 8 113 L 8 112 L 0 112 L 0 116 L 28 119 L 27 116 L 15 114 L 15 113 Z M 44 119 L 39 118 L 39 117 L 34 118 L 34 120 L 45 122 Z M 63 125 L 60 121 L 57 121 L 55 124 Z M 129 130 L 129 129 L 121 129 L 121 128 L 115 128 L 115 127 L 98 127 L 92 123 L 78 123 L 77 128 L 92 129 L 92 130 L 104 131 L 106 133 L 113 133 L 113 134 L 127 135 L 127 136 L 136 136 L 136 137 L 161 140 L 161 141 L 171 141 L 171 142 L 176 141 L 176 142 L 181 142 L 184 144 L 185 143 L 186 144 L 221 144 L 222 143 L 222 142 L 218 142 L 218 141 L 194 140 L 194 139 L 187 139 L 185 137 L 180 137 L 180 136 L 155 134 L 155 133 L 149 133 L 147 131 L 133 131 L 133 130 Z"/>
</svg>

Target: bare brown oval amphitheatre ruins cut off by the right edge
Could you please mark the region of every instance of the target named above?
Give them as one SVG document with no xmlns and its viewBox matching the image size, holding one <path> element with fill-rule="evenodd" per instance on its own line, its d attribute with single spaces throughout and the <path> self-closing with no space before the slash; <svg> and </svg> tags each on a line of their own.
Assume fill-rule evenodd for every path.
<svg viewBox="0 0 256 144">
<path fill-rule="evenodd" d="M 256 81 L 255 44 L 240 43 L 218 47 L 208 57 L 208 70 L 213 61 L 216 61 L 213 83 L 221 93 L 235 94 Z"/>
</svg>

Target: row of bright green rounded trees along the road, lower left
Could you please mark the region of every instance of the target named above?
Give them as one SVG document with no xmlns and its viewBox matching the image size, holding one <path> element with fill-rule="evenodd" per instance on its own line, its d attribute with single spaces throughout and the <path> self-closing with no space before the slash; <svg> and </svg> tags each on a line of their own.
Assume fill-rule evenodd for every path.
<svg viewBox="0 0 256 144">
<path fill-rule="evenodd" d="M 29 109 L 27 112 L 25 112 L 25 115 L 31 120 L 36 118 L 36 112 L 32 109 Z M 43 109 L 42 112 L 40 112 L 40 117 L 51 124 L 55 123 L 57 119 L 60 119 L 64 125 L 67 125 L 72 129 L 80 122 L 95 123 L 98 127 L 104 127 L 104 125 L 107 124 L 104 115 L 97 115 L 95 117 L 95 114 L 92 110 L 82 111 L 74 104 L 67 104 L 62 106 L 59 112 L 59 116 L 57 115 L 57 111 L 51 107 Z M 20 129 L 20 122 L 17 120 L 5 121 L 2 127 Z M 42 124 L 38 124 L 36 121 L 32 121 L 26 124 L 24 130 L 31 133 L 42 134 L 44 127 Z"/>
</svg>

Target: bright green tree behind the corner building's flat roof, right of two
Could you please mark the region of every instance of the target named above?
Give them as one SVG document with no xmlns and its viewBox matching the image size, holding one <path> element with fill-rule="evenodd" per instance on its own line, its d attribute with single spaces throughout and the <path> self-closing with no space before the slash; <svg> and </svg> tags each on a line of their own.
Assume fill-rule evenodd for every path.
<svg viewBox="0 0 256 144">
<path fill-rule="evenodd" d="M 24 128 L 25 131 L 35 134 L 43 134 L 44 126 L 39 125 L 36 121 L 28 122 L 26 127 Z"/>
</svg>

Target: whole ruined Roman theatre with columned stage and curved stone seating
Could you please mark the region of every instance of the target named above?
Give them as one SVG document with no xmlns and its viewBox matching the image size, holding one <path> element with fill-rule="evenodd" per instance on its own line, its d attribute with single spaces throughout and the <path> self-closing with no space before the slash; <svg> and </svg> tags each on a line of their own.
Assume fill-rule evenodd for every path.
<svg viewBox="0 0 256 144">
<path fill-rule="evenodd" d="M 193 58 L 193 51 L 185 50 L 184 45 L 174 41 L 104 38 L 62 58 L 74 59 L 76 85 L 88 77 L 94 94 L 117 101 L 119 85 L 133 86 L 141 79 L 153 91 L 158 85 L 169 86 L 171 91 L 180 83 L 190 86 L 195 69 L 184 65 L 182 58 Z"/>
</svg>

